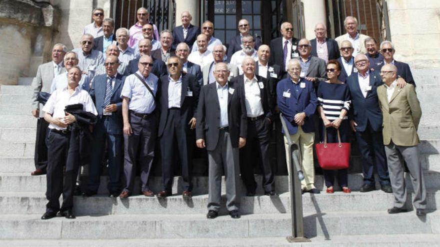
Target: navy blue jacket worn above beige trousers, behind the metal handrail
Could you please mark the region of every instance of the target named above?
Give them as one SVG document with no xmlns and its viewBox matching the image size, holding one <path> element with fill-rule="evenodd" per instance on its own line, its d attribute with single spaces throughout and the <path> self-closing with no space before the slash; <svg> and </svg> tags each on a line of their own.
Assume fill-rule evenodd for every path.
<svg viewBox="0 0 440 247">
<path fill-rule="evenodd" d="M 304 125 L 301 126 L 302 131 L 310 133 L 314 131 L 312 115 L 316 110 L 317 99 L 314 92 L 313 82 L 304 78 L 299 80 L 299 83 L 304 83 L 304 88 L 299 88 L 298 97 L 292 89 L 291 78 L 285 78 L 276 85 L 276 103 L 282 113 L 287 129 L 290 135 L 293 135 L 298 130 L 298 125 L 294 121 L 294 116 L 297 113 L 304 112 L 306 117 Z M 290 97 L 283 96 L 283 92 L 290 92 Z"/>
</svg>

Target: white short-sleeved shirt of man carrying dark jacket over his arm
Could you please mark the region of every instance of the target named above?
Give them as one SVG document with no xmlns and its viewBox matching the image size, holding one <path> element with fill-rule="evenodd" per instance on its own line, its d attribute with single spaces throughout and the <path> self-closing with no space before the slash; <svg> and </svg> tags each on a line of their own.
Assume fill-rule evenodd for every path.
<svg viewBox="0 0 440 247">
<path fill-rule="evenodd" d="M 87 91 L 82 90 L 79 86 L 75 88 L 72 95 L 69 94 L 67 87 L 55 90 L 47 100 L 43 107 L 43 111 L 52 114 L 52 118 L 65 117 L 64 109 L 67 105 L 82 104 L 82 110 L 97 115 L 96 108 Z M 61 122 L 62 119 L 60 120 Z M 49 129 L 65 130 L 58 125 L 49 124 Z"/>
</svg>

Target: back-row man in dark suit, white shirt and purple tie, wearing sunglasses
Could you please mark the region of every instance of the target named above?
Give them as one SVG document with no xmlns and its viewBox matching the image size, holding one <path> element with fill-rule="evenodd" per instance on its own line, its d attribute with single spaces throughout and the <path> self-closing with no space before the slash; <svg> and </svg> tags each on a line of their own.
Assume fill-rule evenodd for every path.
<svg viewBox="0 0 440 247">
<path fill-rule="evenodd" d="M 270 41 L 270 51 L 273 55 L 270 56 L 270 64 L 276 64 L 281 67 L 280 78 L 285 76 L 287 71 L 287 62 L 299 56 L 297 45 L 298 39 L 293 37 L 293 26 L 289 22 L 281 24 L 281 35 Z"/>
</svg>

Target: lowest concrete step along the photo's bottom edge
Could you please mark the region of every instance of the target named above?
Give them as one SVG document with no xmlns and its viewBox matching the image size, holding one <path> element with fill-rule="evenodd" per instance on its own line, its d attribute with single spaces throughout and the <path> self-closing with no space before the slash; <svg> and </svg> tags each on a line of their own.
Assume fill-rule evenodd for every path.
<svg viewBox="0 0 440 247">
<path fill-rule="evenodd" d="M 123 240 L 3 240 L 8 247 L 435 247 L 438 234 L 394 234 L 324 236 L 310 238 L 308 243 L 288 243 L 285 237 L 209 238 L 209 239 L 123 239 Z"/>
</svg>

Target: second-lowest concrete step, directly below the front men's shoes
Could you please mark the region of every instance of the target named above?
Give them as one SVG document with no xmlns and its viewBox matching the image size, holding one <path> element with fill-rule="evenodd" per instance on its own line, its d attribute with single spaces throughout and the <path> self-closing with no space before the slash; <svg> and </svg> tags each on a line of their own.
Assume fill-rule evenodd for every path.
<svg viewBox="0 0 440 247">
<path fill-rule="evenodd" d="M 418 218 L 415 212 L 335 212 L 304 214 L 304 234 L 353 236 L 433 234 L 440 232 L 440 214 Z M 0 239 L 192 239 L 285 237 L 291 234 L 290 214 L 220 216 L 194 215 L 81 216 L 40 220 L 38 215 L 0 216 Z"/>
</svg>

